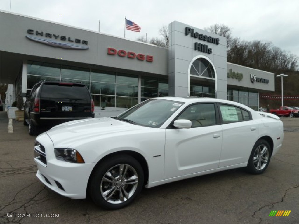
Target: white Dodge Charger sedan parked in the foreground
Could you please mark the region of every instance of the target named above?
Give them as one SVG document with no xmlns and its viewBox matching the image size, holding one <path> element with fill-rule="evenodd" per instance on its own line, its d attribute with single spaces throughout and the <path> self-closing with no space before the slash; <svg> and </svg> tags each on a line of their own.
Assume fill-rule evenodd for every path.
<svg viewBox="0 0 299 224">
<path fill-rule="evenodd" d="M 212 98 L 159 97 L 117 117 L 67 122 L 36 138 L 36 176 L 58 194 L 106 209 L 146 188 L 246 167 L 261 174 L 281 148 L 279 117 Z"/>
</svg>

